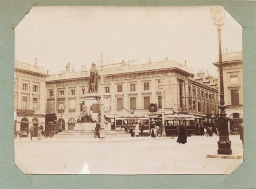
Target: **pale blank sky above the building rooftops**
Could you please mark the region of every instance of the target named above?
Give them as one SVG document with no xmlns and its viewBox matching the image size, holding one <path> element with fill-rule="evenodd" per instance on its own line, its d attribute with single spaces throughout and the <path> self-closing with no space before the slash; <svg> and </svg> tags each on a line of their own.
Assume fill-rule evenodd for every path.
<svg viewBox="0 0 256 189">
<path fill-rule="evenodd" d="M 217 76 L 217 27 L 209 7 L 33 7 L 15 28 L 15 60 L 50 74 L 104 62 L 165 57 Z M 242 51 L 242 27 L 225 14 L 222 49 Z"/>
</svg>

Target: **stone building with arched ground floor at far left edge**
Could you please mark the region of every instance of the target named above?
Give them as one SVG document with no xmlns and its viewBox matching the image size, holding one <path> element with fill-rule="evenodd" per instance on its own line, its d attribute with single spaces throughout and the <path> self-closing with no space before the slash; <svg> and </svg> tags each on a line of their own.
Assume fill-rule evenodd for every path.
<svg viewBox="0 0 256 189">
<path fill-rule="evenodd" d="M 44 68 L 23 62 L 15 62 L 14 72 L 14 111 L 15 131 L 28 135 L 33 124 L 45 127 L 46 77 Z M 36 134 L 37 132 L 35 132 Z"/>
</svg>

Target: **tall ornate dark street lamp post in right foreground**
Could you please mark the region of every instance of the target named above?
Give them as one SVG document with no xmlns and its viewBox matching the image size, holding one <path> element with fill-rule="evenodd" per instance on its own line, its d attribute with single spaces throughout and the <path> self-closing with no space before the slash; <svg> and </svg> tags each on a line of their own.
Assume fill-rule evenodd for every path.
<svg viewBox="0 0 256 189">
<path fill-rule="evenodd" d="M 214 24 L 217 26 L 218 44 L 219 44 L 219 75 L 220 75 L 220 113 L 218 118 L 219 123 L 219 141 L 218 154 L 231 155 L 231 141 L 229 140 L 228 119 L 225 113 L 224 106 L 224 81 L 223 81 L 223 64 L 222 64 L 222 48 L 221 48 L 221 26 L 224 25 L 224 8 L 212 7 L 211 16 Z"/>
</svg>

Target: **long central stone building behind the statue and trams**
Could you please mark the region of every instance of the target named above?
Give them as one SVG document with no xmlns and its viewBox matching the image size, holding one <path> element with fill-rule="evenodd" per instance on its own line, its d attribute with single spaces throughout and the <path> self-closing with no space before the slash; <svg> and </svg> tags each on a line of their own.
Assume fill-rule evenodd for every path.
<svg viewBox="0 0 256 189">
<path fill-rule="evenodd" d="M 106 116 L 132 111 L 147 115 L 151 103 L 158 106 L 157 113 L 186 112 L 204 117 L 218 112 L 217 79 L 204 73 L 194 77 L 186 65 L 168 59 L 104 66 L 101 60 L 99 65 L 99 93 Z M 46 114 L 56 114 L 64 130 L 74 128 L 80 103 L 88 93 L 88 78 L 89 70 L 74 72 L 69 64 L 66 71 L 46 78 Z"/>
</svg>

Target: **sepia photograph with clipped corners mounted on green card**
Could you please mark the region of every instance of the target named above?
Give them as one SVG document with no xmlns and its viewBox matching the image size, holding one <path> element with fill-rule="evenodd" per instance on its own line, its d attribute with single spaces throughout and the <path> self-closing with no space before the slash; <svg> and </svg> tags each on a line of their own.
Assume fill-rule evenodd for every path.
<svg viewBox="0 0 256 189">
<path fill-rule="evenodd" d="M 242 26 L 222 6 L 32 7 L 15 27 L 25 174 L 231 174 Z"/>
</svg>

